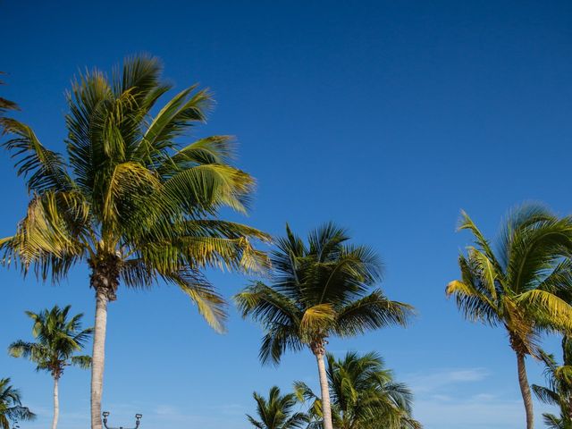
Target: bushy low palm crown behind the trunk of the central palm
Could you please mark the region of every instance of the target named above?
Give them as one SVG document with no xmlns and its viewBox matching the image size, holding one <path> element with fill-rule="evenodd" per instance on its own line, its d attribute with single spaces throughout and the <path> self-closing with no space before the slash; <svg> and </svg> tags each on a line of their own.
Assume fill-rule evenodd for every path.
<svg viewBox="0 0 572 429">
<path fill-rule="evenodd" d="M 332 399 L 332 421 L 336 429 L 418 429 L 411 416 L 412 394 L 375 352 L 359 356 L 349 352 L 336 360 L 328 354 L 328 382 Z M 299 400 L 311 402 L 310 414 L 317 425 L 323 418 L 322 403 L 306 383 L 296 382 Z"/>
</svg>

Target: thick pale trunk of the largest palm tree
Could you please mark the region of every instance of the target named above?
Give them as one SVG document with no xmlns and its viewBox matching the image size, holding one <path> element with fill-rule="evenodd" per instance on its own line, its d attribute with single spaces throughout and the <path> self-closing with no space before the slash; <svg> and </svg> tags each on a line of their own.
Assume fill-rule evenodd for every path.
<svg viewBox="0 0 572 429">
<path fill-rule="evenodd" d="M 102 429 L 101 396 L 104 387 L 105 329 L 107 327 L 107 294 L 96 292 L 96 326 L 91 355 L 91 429 Z"/>
</svg>

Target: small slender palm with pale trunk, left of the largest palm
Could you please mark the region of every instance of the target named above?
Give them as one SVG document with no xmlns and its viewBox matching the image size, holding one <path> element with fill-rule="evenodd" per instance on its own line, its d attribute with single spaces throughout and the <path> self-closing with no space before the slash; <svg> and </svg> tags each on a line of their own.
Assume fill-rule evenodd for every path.
<svg viewBox="0 0 572 429">
<path fill-rule="evenodd" d="M 26 357 L 34 362 L 37 371 L 47 371 L 54 378 L 54 419 L 52 429 L 57 427 L 60 415 L 58 383 L 66 366 L 88 368 L 91 357 L 76 355 L 83 349 L 93 328 L 81 329 L 83 314 L 68 318 L 71 306 L 53 307 L 40 313 L 27 311 L 34 322 L 32 335 L 37 342 L 15 341 L 8 348 L 13 357 Z"/>
</svg>

